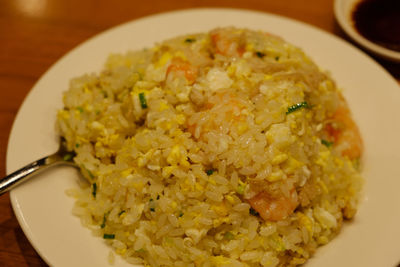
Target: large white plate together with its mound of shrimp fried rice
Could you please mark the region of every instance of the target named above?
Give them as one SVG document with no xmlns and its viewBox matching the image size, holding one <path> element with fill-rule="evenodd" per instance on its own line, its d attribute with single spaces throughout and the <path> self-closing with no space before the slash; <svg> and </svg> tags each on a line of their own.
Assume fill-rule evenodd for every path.
<svg viewBox="0 0 400 267">
<path fill-rule="evenodd" d="M 397 82 L 312 26 L 234 9 L 128 22 L 24 101 L 11 192 L 51 266 L 395 266 Z"/>
</svg>

